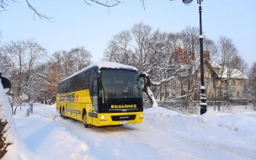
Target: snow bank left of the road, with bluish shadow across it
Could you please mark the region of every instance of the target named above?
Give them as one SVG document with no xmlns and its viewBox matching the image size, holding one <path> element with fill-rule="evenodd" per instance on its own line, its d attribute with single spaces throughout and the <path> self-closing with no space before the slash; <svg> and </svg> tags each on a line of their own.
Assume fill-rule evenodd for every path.
<svg viewBox="0 0 256 160">
<path fill-rule="evenodd" d="M 56 105 L 34 104 L 34 113 L 24 116 L 27 107 L 22 105 L 14 115 L 19 143 L 10 147 L 4 160 L 85 160 L 96 159 L 88 151 L 88 145 L 74 136 L 66 127 L 60 127 L 55 120 Z"/>
</svg>

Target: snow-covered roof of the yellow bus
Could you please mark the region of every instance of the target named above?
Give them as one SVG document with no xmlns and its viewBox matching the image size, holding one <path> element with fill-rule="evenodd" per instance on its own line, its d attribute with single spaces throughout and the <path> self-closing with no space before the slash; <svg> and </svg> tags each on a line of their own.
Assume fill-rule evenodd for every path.
<svg viewBox="0 0 256 160">
<path fill-rule="evenodd" d="M 90 64 L 88 67 L 83 68 L 82 70 L 78 71 L 78 72 L 74 72 L 71 76 L 66 77 L 65 79 L 63 79 L 61 82 L 65 81 L 66 79 L 70 78 L 70 77 L 74 77 L 77 74 L 79 74 L 80 72 L 84 72 L 86 70 L 88 70 L 91 67 L 99 67 L 100 68 L 116 68 L 116 69 L 127 69 L 127 70 L 134 70 L 137 71 L 136 67 L 132 67 L 132 66 L 128 66 L 128 65 L 124 65 L 124 64 L 120 64 L 120 63 L 116 63 L 116 62 L 111 62 L 111 61 L 96 61 L 93 62 L 92 64 Z M 60 83 L 61 83 L 60 82 Z"/>
</svg>

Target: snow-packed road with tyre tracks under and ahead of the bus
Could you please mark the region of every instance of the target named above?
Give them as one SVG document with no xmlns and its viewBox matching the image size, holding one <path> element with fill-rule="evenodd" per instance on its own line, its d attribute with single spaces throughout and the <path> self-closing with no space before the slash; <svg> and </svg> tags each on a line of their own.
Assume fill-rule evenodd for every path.
<svg viewBox="0 0 256 160">
<path fill-rule="evenodd" d="M 256 152 L 202 141 L 189 133 L 157 125 L 122 125 L 85 129 L 77 120 L 56 122 L 85 141 L 95 157 L 107 159 L 250 159 Z"/>
</svg>

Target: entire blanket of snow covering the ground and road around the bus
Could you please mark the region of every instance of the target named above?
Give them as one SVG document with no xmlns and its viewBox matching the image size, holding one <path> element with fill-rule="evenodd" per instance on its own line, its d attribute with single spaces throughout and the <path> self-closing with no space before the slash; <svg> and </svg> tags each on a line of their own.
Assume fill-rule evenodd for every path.
<svg viewBox="0 0 256 160">
<path fill-rule="evenodd" d="M 253 107 L 233 114 L 210 109 L 205 115 L 180 115 L 161 107 L 145 109 L 142 124 L 84 128 L 64 120 L 55 105 L 28 104 L 14 115 L 19 141 L 4 160 L 83 159 L 256 159 Z"/>
</svg>

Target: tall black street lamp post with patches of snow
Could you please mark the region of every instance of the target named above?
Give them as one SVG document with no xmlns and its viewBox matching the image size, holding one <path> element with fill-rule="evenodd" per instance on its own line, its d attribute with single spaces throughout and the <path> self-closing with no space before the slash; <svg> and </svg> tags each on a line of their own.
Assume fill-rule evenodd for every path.
<svg viewBox="0 0 256 160">
<path fill-rule="evenodd" d="M 193 0 L 182 0 L 182 2 L 186 5 L 192 3 Z M 204 50 L 203 50 L 203 31 L 202 31 L 202 6 L 201 2 L 203 0 L 197 0 L 199 4 L 199 18 L 200 18 L 200 75 L 201 75 L 201 87 L 200 87 L 200 115 L 205 114 L 207 111 L 207 103 L 206 103 L 206 96 L 205 96 L 205 80 L 204 80 Z"/>
</svg>

